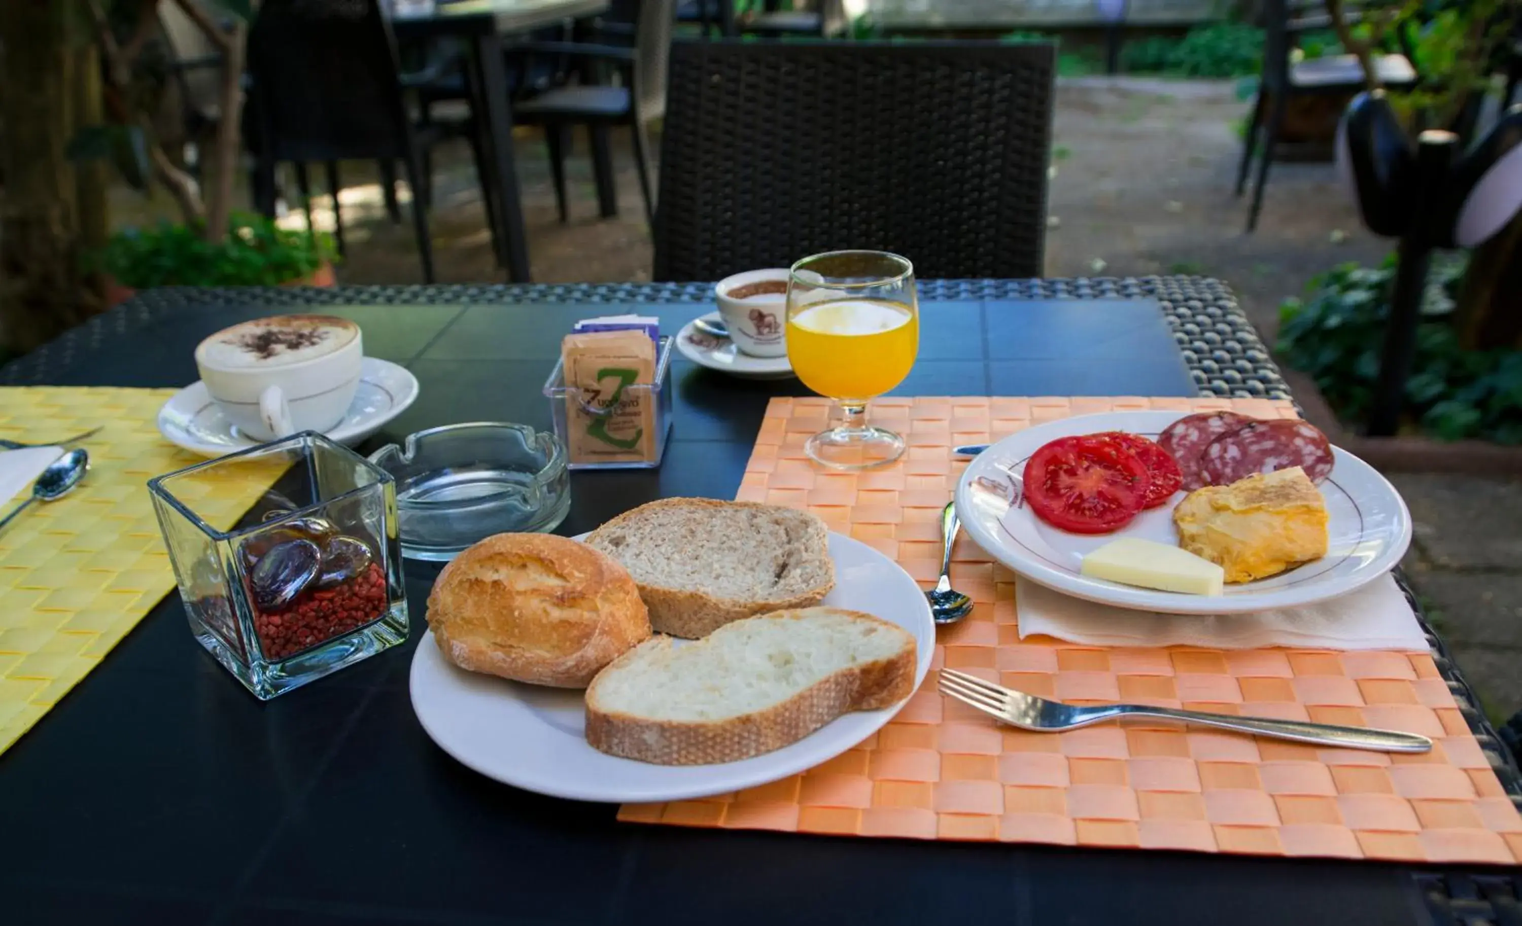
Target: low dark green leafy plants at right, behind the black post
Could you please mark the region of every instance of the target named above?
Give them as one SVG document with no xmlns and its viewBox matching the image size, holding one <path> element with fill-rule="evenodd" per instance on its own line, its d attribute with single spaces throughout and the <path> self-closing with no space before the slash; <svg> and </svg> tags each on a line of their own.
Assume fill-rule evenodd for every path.
<svg viewBox="0 0 1522 926">
<path fill-rule="evenodd" d="M 1522 444 L 1522 351 L 1464 350 L 1450 324 L 1464 266 L 1441 263 L 1428 278 L 1406 411 L 1443 441 Z M 1393 257 L 1377 268 L 1344 263 L 1312 280 L 1304 301 L 1278 310 L 1278 353 L 1310 374 L 1344 418 L 1362 420 L 1373 398 L 1393 286 Z"/>
</svg>

